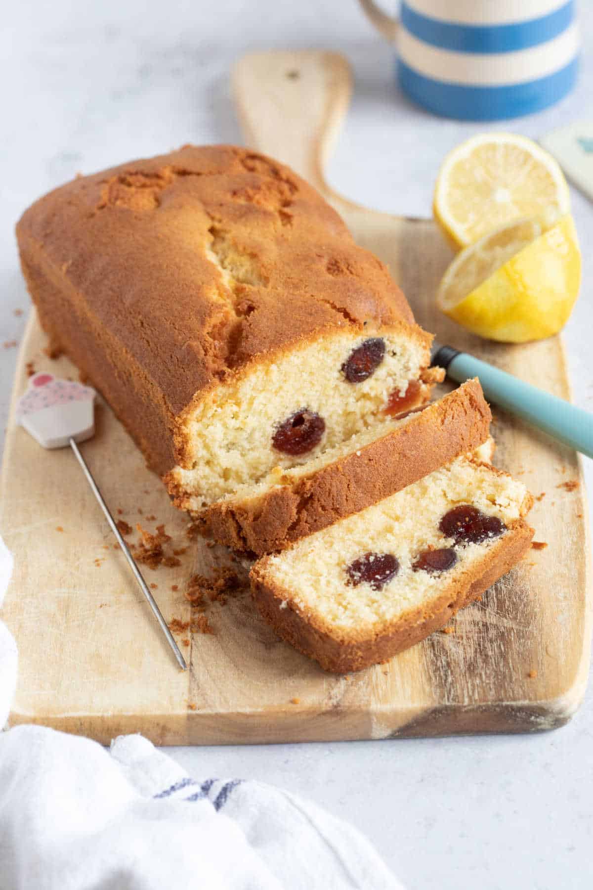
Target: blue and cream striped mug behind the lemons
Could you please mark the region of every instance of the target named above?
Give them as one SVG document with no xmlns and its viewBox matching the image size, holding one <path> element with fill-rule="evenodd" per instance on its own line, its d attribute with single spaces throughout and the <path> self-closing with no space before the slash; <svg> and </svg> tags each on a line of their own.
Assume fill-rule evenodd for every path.
<svg viewBox="0 0 593 890">
<path fill-rule="evenodd" d="M 403 0 L 399 20 L 360 0 L 397 44 L 397 77 L 413 101 L 461 120 L 548 108 L 573 87 L 574 0 Z"/>
</svg>

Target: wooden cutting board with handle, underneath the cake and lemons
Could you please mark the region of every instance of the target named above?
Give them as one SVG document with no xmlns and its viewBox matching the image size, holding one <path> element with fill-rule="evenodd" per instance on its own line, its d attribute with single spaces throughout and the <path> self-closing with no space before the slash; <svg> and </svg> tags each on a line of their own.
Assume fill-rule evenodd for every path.
<svg viewBox="0 0 593 890">
<path fill-rule="evenodd" d="M 347 62 L 332 53 L 260 53 L 234 73 L 246 142 L 292 165 L 343 214 L 357 240 L 389 263 L 421 324 L 534 384 L 570 397 L 558 337 L 486 344 L 433 309 L 450 259 L 429 220 L 375 213 L 334 194 L 323 166 L 350 93 Z M 44 356 L 33 316 L 21 346 L 15 396 L 36 370 L 76 376 Z M 330 676 L 276 640 L 249 596 L 213 603 L 213 634 L 181 631 L 190 663 L 176 667 L 124 565 L 76 461 L 45 452 L 10 419 L 0 528 L 15 556 L 4 620 L 20 651 L 12 724 L 33 722 L 108 742 L 143 732 L 160 744 L 381 739 L 456 732 L 529 732 L 564 724 L 589 666 L 591 597 L 587 508 L 577 457 L 497 415 L 496 462 L 536 497 L 532 550 L 506 578 L 437 633 L 388 664 Z M 147 570 L 167 620 L 188 621 L 188 579 L 228 561 L 186 538 L 187 520 L 107 406 L 84 444 L 108 503 L 148 530 L 164 523 L 180 565 Z M 568 483 L 568 484 L 565 484 Z M 545 495 L 544 495 L 545 492 Z M 119 513 L 121 511 L 121 514 Z M 176 589 L 175 589 L 176 588 Z"/>
</svg>

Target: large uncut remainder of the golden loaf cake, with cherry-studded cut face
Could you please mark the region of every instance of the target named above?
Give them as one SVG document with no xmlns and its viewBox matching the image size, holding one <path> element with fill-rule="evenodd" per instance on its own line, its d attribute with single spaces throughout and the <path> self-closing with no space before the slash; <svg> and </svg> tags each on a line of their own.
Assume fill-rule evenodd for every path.
<svg viewBox="0 0 593 890">
<path fill-rule="evenodd" d="M 386 266 L 288 167 L 232 146 L 85 176 L 17 226 L 52 349 L 200 508 L 427 401 Z"/>
</svg>

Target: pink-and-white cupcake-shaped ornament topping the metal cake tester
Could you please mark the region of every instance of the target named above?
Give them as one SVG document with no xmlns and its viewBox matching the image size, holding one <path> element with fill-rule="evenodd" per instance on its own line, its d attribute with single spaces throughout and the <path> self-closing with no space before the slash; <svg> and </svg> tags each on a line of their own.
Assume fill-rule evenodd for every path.
<svg viewBox="0 0 593 890">
<path fill-rule="evenodd" d="M 91 386 L 42 371 L 29 378 L 17 403 L 17 422 L 44 448 L 63 448 L 70 439 L 82 442 L 95 431 L 96 394 Z"/>
</svg>

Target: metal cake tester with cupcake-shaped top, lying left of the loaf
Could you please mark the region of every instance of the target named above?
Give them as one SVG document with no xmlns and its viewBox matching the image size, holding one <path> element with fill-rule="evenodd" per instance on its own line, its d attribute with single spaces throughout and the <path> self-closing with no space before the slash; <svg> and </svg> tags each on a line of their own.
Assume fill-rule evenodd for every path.
<svg viewBox="0 0 593 890">
<path fill-rule="evenodd" d="M 52 374 L 41 372 L 30 377 L 27 392 L 17 402 L 17 423 L 23 426 L 46 449 L 64 448 L 66 445 L 69 445 L 74 451 L 76 460 L 81 465 L 83 473 L 91 486 L 92 493 L 99 501 L 100 508 L 116 536 L 117 543 L 124 552 L 134 578 L 140 585 L 140 590 L 148 600 L 148 605 L 163 629 L 163 633 L 172 648 L 175 658 L 180 667 L 183 670 L 187 670 L 188 665 L 181 654 L 179 646 L 175 643 L 169 627 L 167 627 L 163 614 L 156 604 L 155 597 L 150 593 L 146 581 L 142 578 L 138 564 L 130 553 L 130 548 L 117 528 L 113 516 L 109 513 L 109 508 L 100 493 L 99 487 L 92 478 L 92 473 L 76 444 L 76 442 L 90 439 L 94 434 L 94 398 L 96 394 L 91 386 L 60 380 L 58 377 L 52 376 Z"/>
</svg>

